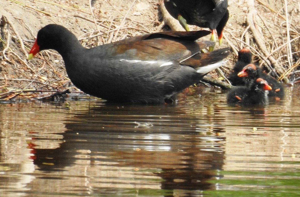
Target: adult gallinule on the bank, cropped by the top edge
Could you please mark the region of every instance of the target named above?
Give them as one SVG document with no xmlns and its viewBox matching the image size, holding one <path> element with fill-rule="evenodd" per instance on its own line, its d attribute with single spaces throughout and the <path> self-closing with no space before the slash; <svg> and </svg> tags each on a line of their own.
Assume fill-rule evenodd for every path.
<svg viewBox="0 0 300 197">
<path fill-rule="evenodd" d="M 219 44 L 222 43 L 223 29 L 229 18 L 227 0 L 164 0 L 164 4 L 186 31 L 189 31 L 187 24 L 209 28 L 211 40 L 215 40 L 217 31 Z"/>
</svg>

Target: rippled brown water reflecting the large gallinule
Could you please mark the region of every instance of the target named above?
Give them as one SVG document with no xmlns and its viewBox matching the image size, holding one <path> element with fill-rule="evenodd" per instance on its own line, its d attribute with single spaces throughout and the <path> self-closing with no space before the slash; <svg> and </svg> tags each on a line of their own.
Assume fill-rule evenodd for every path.
<svg viewBox="0 0 300 197">
<path fill-rule="evenodd" d="M 176 105 L 3 103 L 0 194 L 298 196 L 299 96 L 239 108 L 194 87 Z"/>
</svg>

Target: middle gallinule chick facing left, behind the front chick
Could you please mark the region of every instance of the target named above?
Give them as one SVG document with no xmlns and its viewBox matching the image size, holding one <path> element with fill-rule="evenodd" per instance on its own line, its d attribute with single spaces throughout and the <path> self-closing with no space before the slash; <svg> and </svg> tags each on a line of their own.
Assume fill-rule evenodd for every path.
<svg viewBox="0 0 300 197">
<path fill-rule="evenodd" d="M 268 96 L 275 96 L 278 98 L 282 98 L 284 96 L 283 85 L 273 77 L 263 73 L 259 67 L 253 64 L 246 65 L 237 75 L 244 79 L 246 86 L 250 86 L 256 78 L 262 78 L 268 82 L 269 86 L 272 87 Z"/>
</svg>

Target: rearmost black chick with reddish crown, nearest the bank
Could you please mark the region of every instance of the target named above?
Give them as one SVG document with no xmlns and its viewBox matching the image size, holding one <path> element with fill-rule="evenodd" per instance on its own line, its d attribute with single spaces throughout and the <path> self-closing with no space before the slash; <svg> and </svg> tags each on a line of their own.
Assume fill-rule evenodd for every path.
<svg viewBox="0 0 300 197">
<path fill-rule="evenodd" d="M 238 73 L 243 68 L 252 62 L 252 53 L 249 49 L 243 48 L 238 51 L 238 61 L 236 61 L 232 73 L 228 76 L 228 80 L 233 86 L 243 86 L 245 81 L 243 78 L 238 77 Z"/>
</svg>

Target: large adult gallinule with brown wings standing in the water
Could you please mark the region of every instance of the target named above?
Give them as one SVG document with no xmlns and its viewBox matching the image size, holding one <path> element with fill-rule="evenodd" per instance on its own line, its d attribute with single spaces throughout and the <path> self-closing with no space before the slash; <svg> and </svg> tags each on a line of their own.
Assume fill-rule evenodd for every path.
<svg viewBox="0 0 300 197">
<path fill-rule="evenodd" d="M 50 24 L 39 30 L 28 59 L 54 49 L 70 80 L 85 93 L 113 102 L 170 103 L 226 62 L 228 48 L 199 53 L 214 44 L 195 42 L 209 33 L 152 33 L 86 49 L 69 30 Z"/>
</svg>

